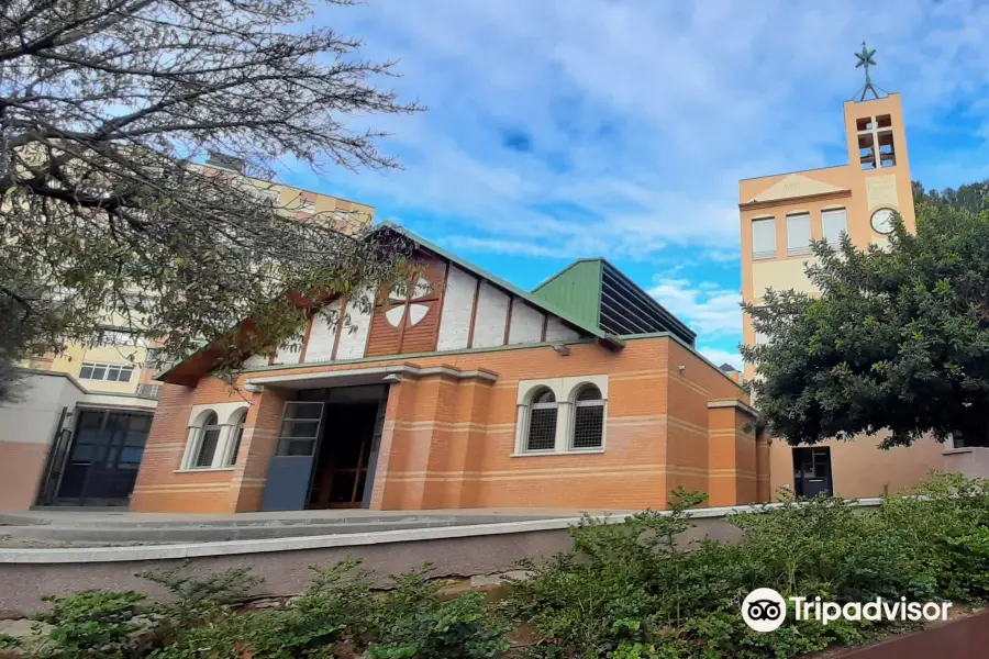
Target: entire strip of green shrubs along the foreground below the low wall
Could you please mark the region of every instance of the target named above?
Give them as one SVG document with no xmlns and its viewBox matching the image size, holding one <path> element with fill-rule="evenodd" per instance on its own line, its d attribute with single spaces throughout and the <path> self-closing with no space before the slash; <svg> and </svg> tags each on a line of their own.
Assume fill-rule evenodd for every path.
<svg viewBox="0 0 989 659">
<path fill-rule="evenodd" d="M 794 501 L 733 515 L 737 543 L 684 543 L 689 509 L 704 495 L 673 492 L 668 512 L 626 521 L 585 517 L 574 548 L 523 561 L 531 578 L 504 599 L 442 595 L 429 566 L 373 590 L 359 561 L 312 568 L 291 606 L 237 612 L 256 584 L 234 570 L 205 579 L 181 569 L 145 574 L 174 601 L 85 591 L 53 597 L 37 616 L 54 627 L 25 656 L 38 659 L 155 657 L 275 659 L 301 657 L 741 659 L 797 657 L 859 645 L 909 623 L 797 622 L 768 634 L 742 619 L 745 595 L 760 587 L 784 596 L 838 603 L 877 596 L 958 604 L 989 597 L 989 482 L 937 476 L 878 507 L 834 498 Z M 537 643 L 511 648 L 513 626 Z M 2 645 L 0 645 L 2 648 Z"/>
</svg>

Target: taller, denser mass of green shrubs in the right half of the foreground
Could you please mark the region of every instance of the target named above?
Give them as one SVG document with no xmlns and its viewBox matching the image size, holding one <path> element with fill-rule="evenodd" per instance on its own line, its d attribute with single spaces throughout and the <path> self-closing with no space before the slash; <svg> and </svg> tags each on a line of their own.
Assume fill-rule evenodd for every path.
<svg viewBox="0 0 989 659">
<path fill-rule="evenodd" d="M 877 596 L 973 601 L 989 593 L 989 488 L 957 477 L 933 478 L 911 496 L 878 509 L 836 498 L 796 501 L 738 514 L 736 544 L 675 539 L 700 501 L 675 492 L 669 513 L 646 512 L 622 524 L 585 520 L 575 549 L 530 561 L 507 610 L 544 637 L 544 657 L 794 657 L 857 645 L 904 624 L 797 622 L 769 634 L 743 622 L 742 600 L 773 588 L 838 603 Z"/>
</svg>

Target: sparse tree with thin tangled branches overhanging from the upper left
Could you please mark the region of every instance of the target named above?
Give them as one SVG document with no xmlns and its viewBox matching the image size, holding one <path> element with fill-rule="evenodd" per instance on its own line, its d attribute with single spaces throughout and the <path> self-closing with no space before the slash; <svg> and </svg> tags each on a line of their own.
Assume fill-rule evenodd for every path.
<svg viewBox="0 0 989 659">
<path fill-rule="evenodd" d="M 284 163 L 398 167 L 377 148 L 384 134 L 354 123 L 420 108 L 377 89 L 393 63 L 308 23 L 313 9 L 0 3 L 0 357 L 91 340 L 108 315 L 164 342 L 166 358 L 249 317 L 251 345 L 236 347 L 252 351 L 298 331 L 288 292 L 345 291 L 400 269 L 400 249 L 334 230 L 353 219 L 300 222 L 301 200 L 196 165 L 221 153 L 254 180 Z"/>
</svg>

